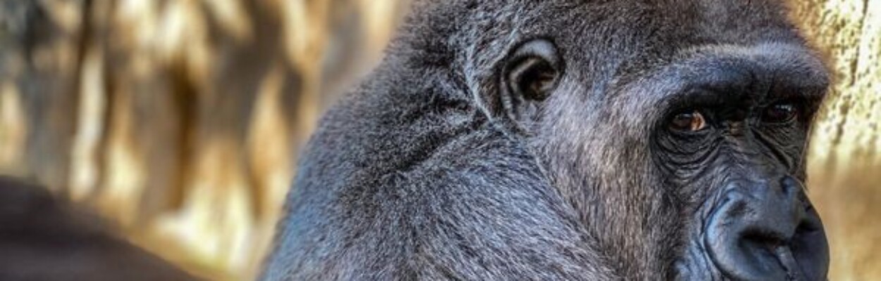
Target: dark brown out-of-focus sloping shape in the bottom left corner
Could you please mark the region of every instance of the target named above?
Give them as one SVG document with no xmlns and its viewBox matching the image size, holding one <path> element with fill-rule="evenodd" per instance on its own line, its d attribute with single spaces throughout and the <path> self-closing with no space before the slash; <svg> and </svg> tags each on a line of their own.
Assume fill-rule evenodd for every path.
<svg viewBox="0 0 881 281">
<path fill-rule="evenodd" d="M 0 177 L 0 280 L 196 280 L 40 186 Z"/>
</svg>

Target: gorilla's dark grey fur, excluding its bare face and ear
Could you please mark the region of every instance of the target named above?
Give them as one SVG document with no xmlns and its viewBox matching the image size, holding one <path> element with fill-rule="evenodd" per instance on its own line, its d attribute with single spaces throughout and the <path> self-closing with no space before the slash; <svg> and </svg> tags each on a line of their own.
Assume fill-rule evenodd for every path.
<svg viewBox="0 0 881 281">
<path fill-rule="evenodd" d="M 785 18 L 762 0 L 418 2 L 309 142 L 263 279 L 675 277 L 684 218 L 714 194 L 666 180 L 654 127 L 708 57 L 823 87 Z M 509 119 L 498 72 L 535 38 L 562 80 Z"/>
</svg>

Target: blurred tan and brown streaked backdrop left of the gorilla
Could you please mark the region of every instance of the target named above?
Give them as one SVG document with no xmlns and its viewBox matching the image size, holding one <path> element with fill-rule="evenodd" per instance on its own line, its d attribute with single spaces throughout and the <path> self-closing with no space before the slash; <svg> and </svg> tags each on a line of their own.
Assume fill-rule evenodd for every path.
<svg viewBox="0 0 881 281">
<path fill-rule="evenodd" d="M 296 149 L 405 4 L 4 1 L 0 171 L 88 202 L 179 263 L 247 279 Z"/>
</svg>

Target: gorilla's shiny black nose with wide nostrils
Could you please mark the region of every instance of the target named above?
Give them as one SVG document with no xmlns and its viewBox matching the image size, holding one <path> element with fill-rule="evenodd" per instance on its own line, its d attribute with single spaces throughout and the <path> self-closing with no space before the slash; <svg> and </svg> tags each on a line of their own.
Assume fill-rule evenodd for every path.
<svg viewBox="0 0 881 281">
<path fill-rule="evenodd" d="M 825 280 L 829 248 L 802 184 L 737 182 L 705 229 L 709 256 L 736 280 Z"/>
</svg>

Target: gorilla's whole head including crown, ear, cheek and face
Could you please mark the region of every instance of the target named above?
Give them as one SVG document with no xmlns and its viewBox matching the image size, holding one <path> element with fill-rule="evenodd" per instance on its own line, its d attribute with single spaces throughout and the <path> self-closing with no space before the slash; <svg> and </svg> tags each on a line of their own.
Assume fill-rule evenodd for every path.
<svg viewBox="0 0 881 281">
<path fill-rule="evenodd" d="M 409 40 L 461 50 L 437 60 L 463 66 L 627 279 L 825 278 L 803 182 L 829 79 L 782 4 L 456 5 L 413 16 L 445 41 Z"/>
</svg>

